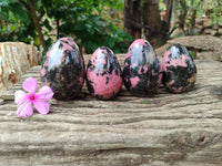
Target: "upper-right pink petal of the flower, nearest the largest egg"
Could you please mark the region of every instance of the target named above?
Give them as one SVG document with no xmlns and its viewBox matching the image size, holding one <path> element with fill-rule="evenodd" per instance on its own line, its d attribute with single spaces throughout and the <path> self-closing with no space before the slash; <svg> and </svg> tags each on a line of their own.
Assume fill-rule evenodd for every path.
<svg viewBox="0 0 222 166">
<path fill-rule="evenodd" d="M 37 100 L 49 101 L 53 96 L 53 92 L 50 86 L 42 86 L 39 92 L 36 94 Z"/>
</svg>

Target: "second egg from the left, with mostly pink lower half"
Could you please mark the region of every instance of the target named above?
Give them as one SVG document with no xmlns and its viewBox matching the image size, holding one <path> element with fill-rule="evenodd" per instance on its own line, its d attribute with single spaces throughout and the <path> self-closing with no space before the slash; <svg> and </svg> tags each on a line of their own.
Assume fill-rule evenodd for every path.
<svg viewBox="0 0 222 166">
<path fill-rule="evenodd" d="M 122 87 L 122 71 L 117 56 L 107 46 L 98 48 L 87 68 L 87 86 L 98 100 L 113 98 Z"/>
</svg>

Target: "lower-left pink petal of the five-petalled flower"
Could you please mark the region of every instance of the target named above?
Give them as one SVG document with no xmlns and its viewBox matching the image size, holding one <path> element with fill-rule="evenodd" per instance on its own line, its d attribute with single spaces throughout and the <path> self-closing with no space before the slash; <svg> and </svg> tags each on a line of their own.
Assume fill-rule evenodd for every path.
<svg viewBox="0 0 222 166">
<path fill-rule="evenodd" d="M 22 105 L 19 106 L 17 110 L 17 115 L 21 117 L 29 117 L 33 114 L 33 108 L 31 105 L 31 101 L 24 102 Z"/>
</svg>

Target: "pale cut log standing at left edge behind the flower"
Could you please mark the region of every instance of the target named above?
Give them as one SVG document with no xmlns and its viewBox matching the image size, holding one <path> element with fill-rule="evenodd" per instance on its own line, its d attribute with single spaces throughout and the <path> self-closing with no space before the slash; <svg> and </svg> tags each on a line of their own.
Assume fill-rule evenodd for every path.
<svg viewBox="0 0 222 166">
<path fill-rule="evenodd" d="M 0 91 L 10 89 L 30 68 L 40 64 L 37 48 L 22 42 L 0 42 Z"/>
</svg>

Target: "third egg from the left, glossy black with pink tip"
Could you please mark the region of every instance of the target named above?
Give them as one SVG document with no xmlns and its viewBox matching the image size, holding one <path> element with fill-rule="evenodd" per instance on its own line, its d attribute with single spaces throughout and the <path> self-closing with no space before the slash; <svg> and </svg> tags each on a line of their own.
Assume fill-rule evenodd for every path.
<svg viewBox="0 0 222 166">
<path fill-rule="evenodd" d="M 144 39 L 135 40 L 125 54 L 123 82 L 133 95 L 147 95 L 160 86 L 162 73 L 160 61 L 151 44 Z"/>
</svg>

